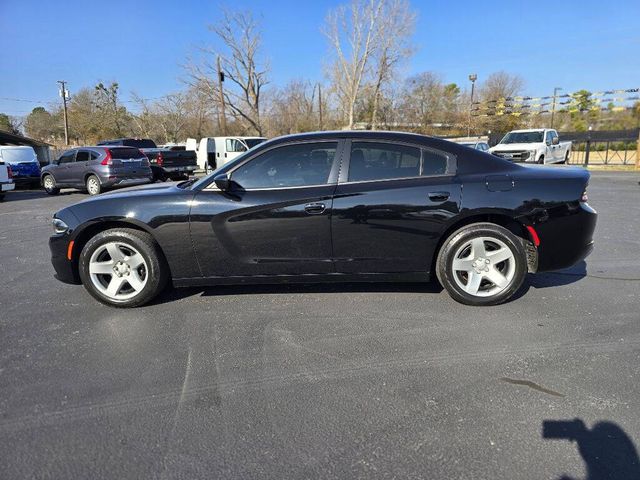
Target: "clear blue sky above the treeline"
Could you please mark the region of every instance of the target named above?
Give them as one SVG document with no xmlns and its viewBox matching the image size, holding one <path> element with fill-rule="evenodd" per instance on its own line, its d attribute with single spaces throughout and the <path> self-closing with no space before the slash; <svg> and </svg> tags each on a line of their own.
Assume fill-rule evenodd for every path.
<svg viewBox="0 0 640 480">
<path fill-rule="evenodd" d="M 327 12 L 347 0 L 0 0 L 0 112 L 25 115 L 68 89 L 117 81 L 124 101 L 184 88 L 198 48 L 220 48 L 208 26 L 223 7 L 260 21 L 271 84 L 323 80 Z M 640 87 L 639 0 L 410 0 L 418 20 L 410 76 L 434 71 L 468 87 L 495 71 L 525 80 L 524 94 Z M 19 99 L 20 101 L 16 101 Z"/>
</svg>

